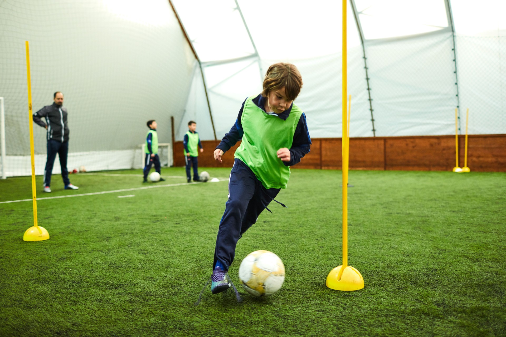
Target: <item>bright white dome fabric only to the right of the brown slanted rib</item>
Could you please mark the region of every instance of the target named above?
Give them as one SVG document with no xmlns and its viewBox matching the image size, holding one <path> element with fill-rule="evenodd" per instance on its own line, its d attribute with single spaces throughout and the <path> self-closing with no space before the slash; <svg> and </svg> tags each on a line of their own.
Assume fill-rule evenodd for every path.
<svg viewBox="0 0 506 337">
<path fill-rule="evenodd" d="M 303 75 L 297 104 L 311 136 L 341 137 L 341 2 L 172 3 L 199 58 L 218 139 L 275 62 L 291 62 Z M 499 0 L 349 1 L 350 135 L 452 134 L 456 107 L 463 118 L 470 109 L 470 133 L 506 133 L 505 9 Z M 198 64 L 195 74 L 202 83 Z M 203 85 L 192 90 L 182 121 L 207 123 Z M 177 138 L 185 131 L 183 123 Z"/>
</svg>

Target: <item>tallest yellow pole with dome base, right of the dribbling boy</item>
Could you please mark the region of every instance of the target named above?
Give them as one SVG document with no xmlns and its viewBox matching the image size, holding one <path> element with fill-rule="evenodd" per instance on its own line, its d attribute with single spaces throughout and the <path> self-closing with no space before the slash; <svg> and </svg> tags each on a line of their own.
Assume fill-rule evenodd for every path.
<svg viewBox="0 0 506 337">
<path fill-rule="evenodd" d="M 346 41 L 346 8 L 343 0 L 343 265 L 335 267 L 328 273 L 326 285 L 333 290 L 352 291 L 364 287 L 360 272 L 348 265 L 348 114 L 347 103 L 347 41 Z"/>
</svg>

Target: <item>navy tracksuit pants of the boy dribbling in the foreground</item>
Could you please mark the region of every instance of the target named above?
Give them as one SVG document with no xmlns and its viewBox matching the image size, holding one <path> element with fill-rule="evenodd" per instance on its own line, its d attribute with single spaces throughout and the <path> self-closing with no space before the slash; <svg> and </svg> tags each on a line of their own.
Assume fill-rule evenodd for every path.
<svg viewBox="0 0 506 337">
<path fill-rule="evenodd" d="M 277 196 L 279 190 L 265 188 L 246 164 L 235 159 L 228 181 L 228 201 L 216 238 L 213 268 L 216 261 L 220 260 L 228 269 L 234 261 L 239 236 L 257 222 L 260 213 Z"/>
</svg>

